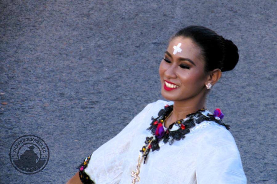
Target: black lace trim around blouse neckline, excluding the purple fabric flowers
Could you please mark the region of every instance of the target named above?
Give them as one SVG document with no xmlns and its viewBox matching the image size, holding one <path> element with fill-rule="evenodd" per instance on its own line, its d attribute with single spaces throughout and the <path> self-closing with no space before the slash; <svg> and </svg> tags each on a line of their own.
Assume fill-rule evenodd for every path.
<svg viewBox="0 0 277 184">
<path fill-rule="evenodd" d="M 206 108 L 203 108 L 203 109 L 199 109 L 195 113 L 188 114 L 186 117 L 189 117 L 189 119 L 187 119 L 186 121 L 183 121 L 183 119 L 180 119 L 180 120 L 172 123 L 168 127 L 169 130 L 173 127 L 174 124 L 179 126 L 180 128 L 175 131 L 167 130 L 165 132 L 164 136 L 162 138 L 158 139 L 157 136 L 155 135 L 157 126 L 161 122 L 161 120 L 164 120 L 171 113 L 172 110 L 173 110 L 173 105 L 166 105 L 166 106 L 164 106 L 164 109 L 161 109 L 159 111 L 157 118 L 154 118 L 154 117 L 151 118 L 153 121 L 151 122 L 151 124 L 150 124 L 151 126 L 148 127 L 147 130 L 151 131 L 151 133 L 155 136 L 155 139 L 152 141 L 152 143 L 150 144 L 150 146 L 147 149 L 147 151 L 145 152 L 145 154 L 143 154 L 144 163 L 146 161 L 146 158 L 147 158 L 147 155 L 148 155 L 150 149 L 152 149 L 152 151 L 160 149 L 160 147 L 159 147 L 160 140 L 163 139 L 163 142 L 166 144 L 169 141 L 170 137 L 172 137 L 171 141 L 169 141 L 169 144 L 171 145 L 171 144 L 173 144 L 174 140 L 184 139 L 185 135 L 190 132 L 190 128 L 195 126 L 195 123 L 200 124 L 203 121 L 215 121 L 219 125 L 225 126 L 225 128 L 227 130 L 230 129 L 230 125 L 224 124 L 221 119 L 215 118 L 212 114 L 208 113 L 207 114 L 208 117 L 203 115 L 202 112 L 207 110 Z M 198 119 L 193 119 L 192 117 L 196 117 Z M 152 138 L 153 138 L 153 136 L 146 137 L 146 141 L 145 141 L 146 146 L 149 144 L 149 142 Z M 143 153 L 146 150 L 146 146 L 144 145 L 143 148 L 140 150 L 140 152 Z"/>
</svg>

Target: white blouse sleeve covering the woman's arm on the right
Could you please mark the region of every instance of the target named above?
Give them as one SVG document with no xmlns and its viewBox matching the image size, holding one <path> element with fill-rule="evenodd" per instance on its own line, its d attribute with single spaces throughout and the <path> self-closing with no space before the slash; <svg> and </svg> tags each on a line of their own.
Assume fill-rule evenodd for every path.
<svg viewBox="0 0 277 184">
<path fill-rule="evenodd" d="M 198 184 L 247 182 L 235 140 L 224 128 L 207 131 L 200 143 L 196 162 Z"/>
</svg>

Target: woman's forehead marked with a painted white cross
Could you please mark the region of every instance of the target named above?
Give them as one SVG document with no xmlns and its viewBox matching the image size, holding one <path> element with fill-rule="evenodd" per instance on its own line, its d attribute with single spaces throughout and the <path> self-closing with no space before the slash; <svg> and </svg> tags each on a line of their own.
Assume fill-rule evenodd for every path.
<svg viewBox="0 0 277 184">
<path fill-rule="evenodd" d="M 176 47 L 182 49 L 179 49 L 181 52 L 177 52 L 178 48 L 176 49 Z M 180 36 L 173 38 L 169 42 L 167 51 L 171 54 L 172 57 L 189 58 L 195 62 L 201 60 L 201 49 L 193 42 L 191 38 L 184 38 Z"/>
</svg>

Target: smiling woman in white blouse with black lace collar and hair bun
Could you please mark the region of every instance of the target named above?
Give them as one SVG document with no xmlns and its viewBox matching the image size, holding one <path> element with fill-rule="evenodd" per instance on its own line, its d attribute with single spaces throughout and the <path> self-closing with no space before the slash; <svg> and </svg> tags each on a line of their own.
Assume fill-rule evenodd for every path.
<svg viewBox="0 0 277 184">
<path fill-rule="evenodd" d="M 211 29 L 188 26 L 160 63 L 161 93 L 114 138 L 86 157 L 68 183 L 246 183 L 239 150 L 206 96 L 239 60 L 238 48 Z"/>
</svg>

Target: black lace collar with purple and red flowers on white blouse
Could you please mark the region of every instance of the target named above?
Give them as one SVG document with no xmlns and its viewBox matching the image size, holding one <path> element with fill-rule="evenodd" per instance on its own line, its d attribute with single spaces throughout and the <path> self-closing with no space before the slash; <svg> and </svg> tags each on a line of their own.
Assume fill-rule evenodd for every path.
<svg viewBox="0 0 277 184">
<path fill-rule="evenodd" d="M 169 142 L 169 144 L 173 144 L 174 140 L 180 140 L 185 138 L 185 134 L 190 132 L 190 128 L 195 126 L 195 123 L 200 124 L 203 121 L 215 121 L 219 125 L 223 125 L 226 129 L 230 129 L 230 125 L 226 125 L 222 122 L 222 118 L 224 117 L 223 113 L 220 109 L 215 109 L 214 113 L 210 113 L 206 108 L 199 109 L 195 113 L 188 114 L 185 119 L 180 119 L 174 123 L 172 123 L 168 129 L 164 127 L 164 119 L 171 113 L 173 110 L 173 105 L 165 105 L 163 109 L 161 109 L 158 113 L 158 117 L 151 117 L 152 122 L 150 127 L 147 128 L 151 132 L 153 136 L 146 137 L 145 145 L 142 147 L 140 152 L 144 152 L 146 150 L 146 146 L 148 146 L 147 151 L 143 154 L 144 164 L 150 150 L 155 151 L 159 150 L 161 144 L 159 142 L 163 140 L 163 144 Z"/>
</svg>

